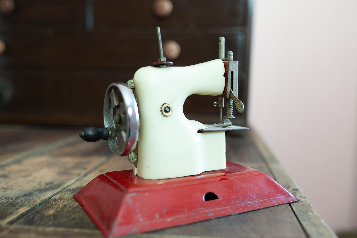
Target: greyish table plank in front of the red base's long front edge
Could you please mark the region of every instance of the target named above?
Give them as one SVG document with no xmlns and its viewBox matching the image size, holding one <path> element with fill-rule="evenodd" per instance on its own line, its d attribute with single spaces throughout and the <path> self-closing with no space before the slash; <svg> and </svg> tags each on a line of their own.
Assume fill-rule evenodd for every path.
<svg viewBox="0 0 357 238">
<path fill-rule="evenodd" d="M 168 228 L 155 233 L 207 237 L 306 237 L 288 204 Z"/>
</svg>

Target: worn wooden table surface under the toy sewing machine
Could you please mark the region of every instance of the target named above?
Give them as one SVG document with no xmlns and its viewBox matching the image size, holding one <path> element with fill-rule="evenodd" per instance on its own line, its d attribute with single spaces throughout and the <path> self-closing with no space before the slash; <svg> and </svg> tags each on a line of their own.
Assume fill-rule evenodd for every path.
<svg viewBox="0 0 357 238">
<path fill-rule="evenodd" d="M 79 131 L 0 125 L 0 237 L 103 237 L 73 194 L 132 165 Z M 256 134 L 229 133 L 226 141 L 227 160 L 269 174 L 300 200 L 128 237 L 336 237 Z"/>
</svg>

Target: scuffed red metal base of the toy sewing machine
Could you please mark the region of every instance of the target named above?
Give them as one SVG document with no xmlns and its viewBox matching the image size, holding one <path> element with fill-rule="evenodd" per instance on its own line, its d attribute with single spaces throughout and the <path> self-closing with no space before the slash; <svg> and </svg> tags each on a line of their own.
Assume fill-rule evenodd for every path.
<svg viewBox="0 0 357 238">
<path fill-rule="evenodd" d="M 232 162 L 222 170 L 173 179 L 142 179 L 131 170 L 109 172 L 74 197 L 107 237 L 298 200 L 267 174 Z"/>
</svg>

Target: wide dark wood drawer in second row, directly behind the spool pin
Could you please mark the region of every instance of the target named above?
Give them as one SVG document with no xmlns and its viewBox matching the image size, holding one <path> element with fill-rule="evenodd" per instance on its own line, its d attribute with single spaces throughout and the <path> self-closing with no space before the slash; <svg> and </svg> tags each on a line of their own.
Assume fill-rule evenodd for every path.
<svg viewBox="0 0 357 238">
<path fill-rule="evenodd" d="M 245 69 L 245 34 L 221 34 L 204 31 L 162 30 L 162 39 L 174 39 L 181 46 L 181 55 L 174 66 L 198 64 L 218 58 L 218 38 L 225 36 L 226 51 L 232 50 Z M 147 32 L 121 33 L 53 33 L 0 35 L 6 51 L 0 56 L 0 67 L 79 66 L 96 68 L 138 69 L 157 61 L 155 28 Z"/>
</svg>

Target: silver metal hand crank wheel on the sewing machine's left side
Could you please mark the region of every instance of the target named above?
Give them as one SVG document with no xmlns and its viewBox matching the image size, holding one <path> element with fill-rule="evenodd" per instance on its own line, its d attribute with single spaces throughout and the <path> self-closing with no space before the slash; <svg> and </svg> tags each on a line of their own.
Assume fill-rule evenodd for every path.
<svg viewBox="0 0 357 238">
<path fill-rule="evenodd" d="M 124 102 L 119 102 L 118 92 Z M 104 127 L 109 130 L 108 144 L 114 154 L 124 156 L 135 149 L 139 110 L 133 92 L 125 83 L 112 83 L 105 93 Z"/>
</svg>

